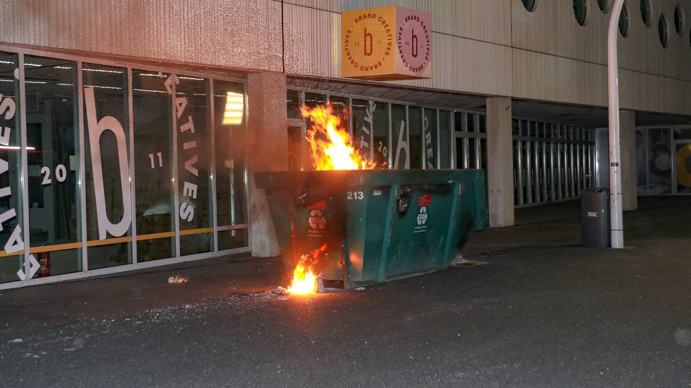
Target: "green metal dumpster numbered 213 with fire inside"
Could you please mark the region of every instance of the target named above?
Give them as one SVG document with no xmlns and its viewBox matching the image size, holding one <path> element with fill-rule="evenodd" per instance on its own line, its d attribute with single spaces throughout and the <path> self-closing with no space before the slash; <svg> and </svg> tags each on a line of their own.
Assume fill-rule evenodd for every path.
<svg viewBox="0 0 691 388">
<path fill-rule="evenodd" d="M 258 172 L 288 274 L 345 288 L 446 269 L 488 222 L 483 170 Z M 317 257 L 318 254 L 318 257 Z"/>
</svg>

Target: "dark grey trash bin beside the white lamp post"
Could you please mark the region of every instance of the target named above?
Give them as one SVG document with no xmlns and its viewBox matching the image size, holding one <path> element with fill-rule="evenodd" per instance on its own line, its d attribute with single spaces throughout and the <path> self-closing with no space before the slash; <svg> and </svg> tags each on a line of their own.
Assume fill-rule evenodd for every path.
<svg viewBox="0 0 691 388">
<path fill-rule="evenodd" d="M 581 237 L 585 247 L 609 247 L 609 190 L 598 187 L 580 194 Z"/>
</svg>

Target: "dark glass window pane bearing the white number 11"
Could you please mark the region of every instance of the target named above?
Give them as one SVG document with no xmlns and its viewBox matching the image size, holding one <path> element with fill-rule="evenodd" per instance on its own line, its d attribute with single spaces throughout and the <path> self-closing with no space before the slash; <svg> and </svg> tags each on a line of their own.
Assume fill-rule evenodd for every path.
<svg viewBox="0 0 691 388">
<path fill-rule="evenodd" d="M 170 74 L 132 71 L 137 261 L 175 256 Z M 172 92 L 172 89 L 171 89 Z"/>
</svg>

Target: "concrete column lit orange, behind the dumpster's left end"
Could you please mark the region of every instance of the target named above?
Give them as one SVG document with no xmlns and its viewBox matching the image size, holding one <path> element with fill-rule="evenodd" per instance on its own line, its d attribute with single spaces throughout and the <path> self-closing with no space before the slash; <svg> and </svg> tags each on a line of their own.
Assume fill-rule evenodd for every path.
<svg viewBox="0 0 691 388">
<path fill-rule="evenodd" d="M 285 90 L 283 73 L 267 72 L 247 76 L 249 233 L 252 236 L 252 256 L 272 257 L 281 253 L 266 194 L 254 184 L 254 172 L 288 170 Z"/>
</svg>

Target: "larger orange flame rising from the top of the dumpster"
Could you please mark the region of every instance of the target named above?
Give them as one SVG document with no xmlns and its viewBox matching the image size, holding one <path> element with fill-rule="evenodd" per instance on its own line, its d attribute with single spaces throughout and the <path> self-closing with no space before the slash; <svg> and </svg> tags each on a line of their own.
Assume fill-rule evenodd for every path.
<svg viewBox="0 0 691 388">
<path fill-rule="evenodd" d="M 314 170 L 369 170 L 377 167 L 363 158 L 352 145 L 348 130 L 341 118 L 334 114 L 330 103 L 309 108 L 303 105 L 300 113 L 312 121 L 307 130 L 307 143 L 312 149 Z M 347 112 L 343 110 L 343 114 Z"/>
</svg>

